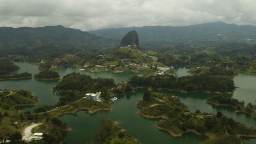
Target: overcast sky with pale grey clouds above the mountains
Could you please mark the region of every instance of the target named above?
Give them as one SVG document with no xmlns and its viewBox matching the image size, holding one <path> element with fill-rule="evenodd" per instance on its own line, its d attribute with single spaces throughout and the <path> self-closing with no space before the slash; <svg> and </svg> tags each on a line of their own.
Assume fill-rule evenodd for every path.
<svg viewBox="0 0 256 144">
<path fill-rule="evenodd" d="M 0 27 L 256 25 L 255 0 L 1 0 Z"/>
</svg>

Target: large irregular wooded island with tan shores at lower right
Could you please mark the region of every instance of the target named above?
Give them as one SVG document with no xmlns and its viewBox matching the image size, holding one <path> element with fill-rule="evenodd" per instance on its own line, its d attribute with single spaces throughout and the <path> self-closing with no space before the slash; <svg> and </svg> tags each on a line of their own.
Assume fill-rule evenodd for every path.
<svg viewBox="0 0 256 144">
<path fill-rule="evenodd" d="M 201 113 L 200 110 L 189 112 L 188 107 L 181 103 L 178 97 L 170 94 L 145 92 L 137 107 L 141 109 L 138 113 L 144 117 L 165 119 L 155 126 L 168 131 L 172 136 L 192 132 L 210 138 L 203 143 L 224 142 L 230 139 L 241 143 L 243 141 L 240 136 L 256 137 L 256 130 L 245 127 L 221 112 L 217 115 Z"/>
</svg>

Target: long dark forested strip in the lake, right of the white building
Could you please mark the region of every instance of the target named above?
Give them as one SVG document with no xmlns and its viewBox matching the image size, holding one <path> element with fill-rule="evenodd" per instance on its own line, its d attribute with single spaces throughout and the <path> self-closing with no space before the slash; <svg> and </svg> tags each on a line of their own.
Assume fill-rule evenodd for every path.
<svg viewBox="0 0 256 144">
<path fill-rule="evenodd" d="M 232 92 L 235 88 L 232 79 L 207 74 L 182 77 L 173 75 L 133 76 L 129 83 L 133 87 L 167 88 L 187 92 Z"/>
</svg>

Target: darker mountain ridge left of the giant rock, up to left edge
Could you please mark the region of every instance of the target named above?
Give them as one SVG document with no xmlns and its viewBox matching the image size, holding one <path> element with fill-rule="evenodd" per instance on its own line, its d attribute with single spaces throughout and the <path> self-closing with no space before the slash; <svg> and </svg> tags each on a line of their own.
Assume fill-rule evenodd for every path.
<svg viewBox="0 0 256 144">
<path fill-rule="evenodd" d="M 116 40 L 101 38 L 89 32 L 60 25 L 37 28 L 0 27 L 0 48 L 55 45 L 82 49 L 102 49 L 102 47 L 113 47 L 118 43 L 120 42 Z"/>
</svg>

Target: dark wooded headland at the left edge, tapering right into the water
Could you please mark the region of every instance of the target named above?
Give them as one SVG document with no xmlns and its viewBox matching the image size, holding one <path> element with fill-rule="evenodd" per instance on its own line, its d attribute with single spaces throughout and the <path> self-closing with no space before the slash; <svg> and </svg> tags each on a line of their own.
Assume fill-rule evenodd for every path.
<svg viewBox="0 0 256 144">
<path fill-rule="evenodd" d="M 0 59 L 0 75 L 8 75 L 11 72 L 17 71 L 20 68 L 13 62 L 9 62 L 5 59 Z"/>
</svg>

